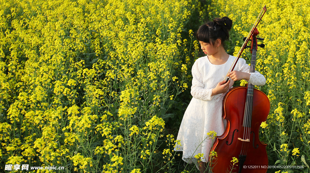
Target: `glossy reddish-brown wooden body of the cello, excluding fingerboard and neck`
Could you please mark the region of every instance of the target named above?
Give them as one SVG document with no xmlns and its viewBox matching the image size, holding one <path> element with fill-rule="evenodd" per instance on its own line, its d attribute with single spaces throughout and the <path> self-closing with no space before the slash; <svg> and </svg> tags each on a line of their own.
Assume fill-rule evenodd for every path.
<svg viewBox="0 0 310 173">
<path fill-rule="evenodd" d="M 227 120 L 226 130 L 219 136 L 213 145 L 217 152 L 217 157 L 210 159 L 210 166 L 214 173 L 239 172 L 240 157 L 242 148 L 246 148 L 245 162 L 241 167 L 241 172 L 262 173 L 267 172 L 268 157 L 266 145 L 259 140 L 259 127 L 261 122 L 266 121 L 269 114 L 270 104 L 268 97 L 257 89 L 254 89 L 252 105 L 252 124 L 250 128 L 240 128 L 243 126 L 246 105 L 247 87 L 234 87 L 225 95 L 223 100 L 224 119 Z M 250 132 L 247 139 L 242 141 L 244 134 Z M 239 138 L 239 139 L 238 139 Z M 245 139 L 245 140 L 247 140 Z M 231 160 L 233 157 L 239 159 L 235 165 Z"/>
</svg>

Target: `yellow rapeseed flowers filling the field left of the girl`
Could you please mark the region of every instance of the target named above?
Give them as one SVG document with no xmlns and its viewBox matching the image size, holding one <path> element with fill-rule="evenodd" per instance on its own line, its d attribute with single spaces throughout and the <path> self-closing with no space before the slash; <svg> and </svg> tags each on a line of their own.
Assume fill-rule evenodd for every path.
<svg viewBox="0 0 310 173">
<path fill-rule="evenodd" d="M 201 7 L 1 0 L 1 172 L 172 171 L 164 119 L 188 88 L 198 44 L 185 25 Z"/>
</svg>

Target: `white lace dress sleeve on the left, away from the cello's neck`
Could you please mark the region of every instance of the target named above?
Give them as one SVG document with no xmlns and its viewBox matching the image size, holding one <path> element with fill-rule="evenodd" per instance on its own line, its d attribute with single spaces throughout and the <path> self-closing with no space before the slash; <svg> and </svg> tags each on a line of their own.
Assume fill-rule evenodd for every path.
<svg viewBox="0 0 310 173">
<path fill-rule="evenodd" d="M 203 76 L 198 69 L 198 60 L 195 61 L 192 67 L 192 87 L 191 87 L 191 94 L 195 99 L 200 100 L 212 100 L 214 95 L 212 95 L 212 88 L 204 88 L 204 84 L 202 83 Z M 211 96 L 212 95 L 212 96 Z"/>
</svg>

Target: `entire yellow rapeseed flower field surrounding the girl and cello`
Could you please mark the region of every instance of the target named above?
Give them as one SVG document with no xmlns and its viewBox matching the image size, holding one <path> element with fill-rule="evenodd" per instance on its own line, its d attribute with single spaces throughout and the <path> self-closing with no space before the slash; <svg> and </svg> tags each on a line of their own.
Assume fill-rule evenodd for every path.
<svg viewBox="0 0 310 173">
<path fill-rule="evenodd" d="M 181 117 L 175 110 L 186 107 L 180 96 L 201 56 L 191 21 L 231 18 L 227 49 L 236 55 L 266 5 L 258 26 L 266 47 L 258 50 L 256 69 L 267 79 L 257 88 L 271 104 L 260 134 L 274 166 L 268 172 L 309 172 L 310 1 L 0 4 L 1 171 L 196 172 L 191 165 L 178 168 L 183 161 L 167 130 L 169 119 Z M 250 53 L 242 56 L 249 60 Z"/>
</svg>

